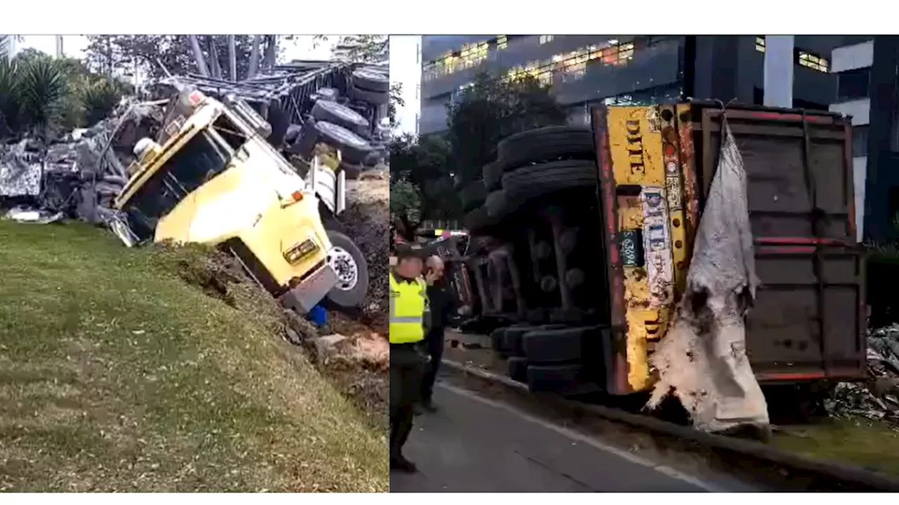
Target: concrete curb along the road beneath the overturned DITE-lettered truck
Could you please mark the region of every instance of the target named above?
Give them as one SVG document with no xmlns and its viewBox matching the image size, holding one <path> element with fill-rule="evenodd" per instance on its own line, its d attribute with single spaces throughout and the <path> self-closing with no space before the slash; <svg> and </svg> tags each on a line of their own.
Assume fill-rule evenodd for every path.
<svg viewBox="0 0 899 505">
<path fill-rule="evenodd" d="M 444 368 L 452 369 L 457 373 L 477 377 L 478 379 L 492 384 L 503 385 L 520 393 L 530 393 L 527 385 L 515 382 L 509 377 L 500 376 L 481 368 L 470 367 L 450 359 L 443 359 L 441 360 L 441 363 Z M 610 421 L 616 421 L 644 430 L 654 431 L 672 438 L 691 440 L 705 447 L 752 456 L 801 472 L 817 474 L 831 481 L 844 483 L 857 491 L 899 492 L 899 479 L 864 468 L 843 465 L 832 461 L 812 459 L 810 457 L 781 451 L 761 444 L 760 442 L 713 435 L 704 431 L 693 430 L 686 426 L 625 412 L 619 409 L 604 407 L 602 405 L 579 403 L 572 400 L 565 400 L 564 398 L 558 398 L 558 401 L 562 406 L 571 410 L 571 412 L 588 413 Z"/>
</svg>

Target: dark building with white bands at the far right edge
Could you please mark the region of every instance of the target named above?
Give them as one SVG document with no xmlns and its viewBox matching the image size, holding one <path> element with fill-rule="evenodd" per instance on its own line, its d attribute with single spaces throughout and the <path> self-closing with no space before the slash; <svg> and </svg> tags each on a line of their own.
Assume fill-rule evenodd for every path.
<svg viewBox="0 0 899 505">
<path fill-rule="evenodd" d="M 853 36 L 832 51 L 831 111 L 852 117 L 852 170 L 859 239 L 899 235 L 899 37 Z"/>
</svg>

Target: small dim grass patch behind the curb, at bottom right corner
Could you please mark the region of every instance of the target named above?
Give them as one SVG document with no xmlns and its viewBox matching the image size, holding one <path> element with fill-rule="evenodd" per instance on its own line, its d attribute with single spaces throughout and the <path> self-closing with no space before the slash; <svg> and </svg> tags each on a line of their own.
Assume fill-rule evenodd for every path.
<svg viewBox="0 0 899 505">
<path fill-rule="evenodd" d="M 899 432 L 861 418 L 823 420 L 776 432 L 773 447 L 899 476 Z"/>
</svg>

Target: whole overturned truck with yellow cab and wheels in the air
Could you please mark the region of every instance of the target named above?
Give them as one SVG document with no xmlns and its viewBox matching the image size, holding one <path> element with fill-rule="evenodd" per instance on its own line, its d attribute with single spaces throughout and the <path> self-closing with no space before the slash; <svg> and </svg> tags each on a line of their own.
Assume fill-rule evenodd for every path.
<svg viewBox="0 0 899 505">
<path fill-rule="evenodd" d="M 132 141 L 127 177 L 120 178 L 120 163 L 101 164 L 106 185 L 127 180 L 121 188 L 99 189 L 116 195 L 102 220 L 129 245 L 216 245 L 301 314 L 325 297 L 336 306 L 359 306 L 368 267 L 343 233 L 340 215 L 346 180 L 378 155 L 387 88 L 369 91 L 368 102 L 339 97 L 357 84 L 387 84 L 387 77 L 348 64 L 297 66 L 243 83 L 200 76 L 163 82 L 178 93 L 161 113 L 156 135 Z M 119 127 L 112 137 L 120 135 Z M 325 161 L 328 155 L 335 164 Z"/>
</svg>

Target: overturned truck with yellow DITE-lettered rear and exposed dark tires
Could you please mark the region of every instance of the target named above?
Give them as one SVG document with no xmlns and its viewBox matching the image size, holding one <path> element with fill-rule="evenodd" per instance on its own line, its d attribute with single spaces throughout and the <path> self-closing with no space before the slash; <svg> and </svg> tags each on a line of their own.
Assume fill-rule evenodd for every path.
<svg viewBox="0 0 899 505">
<path fill-rule="evenodd" d="M 698 250 L 704 221 L 728 222 L 709 207 L 728 128 L 742 158 L 730 194 L 746 200 L 745 235 L 734 217 Z M 468 291 L 497 327 L 494 349 L 510 376 L 535 390 L 651 391 L 667 373 L 654 354 L 674 323 L 715 315 L 715 293 L 701 293 L 691 269 L 709 246 L 743 241 L 750 253 L 739 260 L 750 266 L 736 269 L 741 288 L 722 299 L 742 304 L 734 315 L 745 350 L 709 340 L 710 359 L 748 357 L 761 385 L 864 377 L 850 134 L 849 120 L 826 112 L 692 102 L 600 107 L 592 129 L 504 139 L 462 197 L 473 235 Z"/>
</svg>

